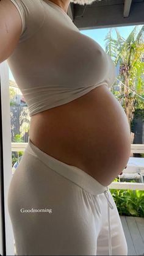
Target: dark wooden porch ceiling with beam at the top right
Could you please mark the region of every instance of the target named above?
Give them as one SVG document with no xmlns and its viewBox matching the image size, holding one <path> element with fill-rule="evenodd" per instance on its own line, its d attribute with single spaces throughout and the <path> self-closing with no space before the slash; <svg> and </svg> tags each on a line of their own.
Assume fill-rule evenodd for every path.
<svg viewBox="0 0 144 256">
<path fill-rule="evenodd" d="M 90 5 L 71 2 L 68 15 L 79 30 L 139 25 L 144 24 L 144 0 L 101 0 Z"/>
</svg>

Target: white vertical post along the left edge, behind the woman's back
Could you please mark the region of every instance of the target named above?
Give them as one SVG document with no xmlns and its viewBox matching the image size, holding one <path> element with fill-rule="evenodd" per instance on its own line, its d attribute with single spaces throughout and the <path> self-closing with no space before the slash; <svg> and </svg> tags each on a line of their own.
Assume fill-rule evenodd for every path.
<svg viewBox="0 0 144 256">
<path fill-rule="evenodd" d="M 2 108 L 1 129 L 2 129 L 2 144 L 3 144 L 2 161 L 4 166 L 4 205 L 5 205 L 4 216 L 5 216 L 6 255 L 15 255 L 12 224 L 10 222 L 10 216 L 9 216 L 8 207 L 7 207 L 7 194 L 9 190 L 10 180 L 12 178 L 12 151 L 11 151 L 11 131 L 10 131 L 9 66 L 6 60 L 0 64 L 0 73 L 1 73 L 1 108 Z"/>
</svg>

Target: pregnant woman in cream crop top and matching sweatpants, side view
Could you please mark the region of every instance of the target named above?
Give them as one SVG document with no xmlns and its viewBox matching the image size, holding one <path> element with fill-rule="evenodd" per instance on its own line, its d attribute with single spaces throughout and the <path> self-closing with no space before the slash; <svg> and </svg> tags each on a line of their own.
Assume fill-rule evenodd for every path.
<svg viewBox="0 0 144 256">
<path fill-rule="evenodd" d="M 0 2 L 0 60 L 31 117 L 8 196 L 16 255 L 127 255 L 107 186 L 128 163 L 129 123 L 109 90 L 112 59 L 79 32 L 69 4 Z"/>
</svg>

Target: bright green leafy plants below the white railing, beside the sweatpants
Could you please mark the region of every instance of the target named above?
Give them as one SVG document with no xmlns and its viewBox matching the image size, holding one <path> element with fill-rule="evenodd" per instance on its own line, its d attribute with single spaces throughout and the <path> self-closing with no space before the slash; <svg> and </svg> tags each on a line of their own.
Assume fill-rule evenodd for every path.
<svg viewBox="0 0 144 256">
<path fill-rule="evenodd" d="M 144 217 L 144 191 L 131 189 L 109 190 L 120 215 Z"/>
</svg>

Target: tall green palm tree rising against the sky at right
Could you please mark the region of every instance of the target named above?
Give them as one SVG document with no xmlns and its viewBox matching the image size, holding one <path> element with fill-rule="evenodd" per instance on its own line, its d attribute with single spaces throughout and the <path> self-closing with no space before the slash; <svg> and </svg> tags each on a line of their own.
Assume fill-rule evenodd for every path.
<svg viewBox="0 0 144 256">
<path fill-rule="evenodd" d="M 131 125 L 134 117 L 135 104 L 139 104 L 139 108 L 144 108 L 143 99 L 140 99 L 131 91 L 144 95 L 144 81 L 142 79 L 142 74 L 144 73 L 144 26 L 141 27 L 137 34 L 138 27 L 134 27 L 126 40 L 121 37 L 117 28 L 110 28 L 105 38 L 106 53 L 112 57 L 116 66 L 119 65 L 117 78 L 125 85 L 121 84 L 120 91 L 117 92 L 114 90 L 116 81 L 111 90 L 123 106 L 129 125 Z M 112 29 L 115 29 L 117 34 L 116 40 L 112 38 Z"/>
</svg>

